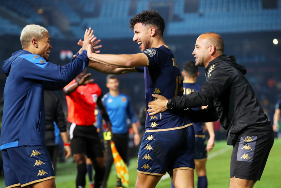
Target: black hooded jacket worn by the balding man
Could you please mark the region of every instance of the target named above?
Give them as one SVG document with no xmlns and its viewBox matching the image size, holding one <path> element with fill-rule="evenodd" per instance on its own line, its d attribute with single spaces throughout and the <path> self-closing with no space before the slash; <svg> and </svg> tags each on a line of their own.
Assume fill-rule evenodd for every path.
<svg viewBox="0 0 281 188">
<path fill-rule="evenodd" d="M 234 145 L 241 136 L 272 133 L 270 121 L 244 76 L 246 68 L 238 65 L 234 56 L 220 55 L 210 61 L 205 72 L 206 82 L 198 92 L 170 99 L 176 109 L 209 104 L 207 109 L 185 112 L 192 122 L 219 118 L 226 130 L 228 145 Z"/>
</svg>

